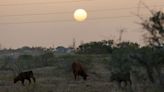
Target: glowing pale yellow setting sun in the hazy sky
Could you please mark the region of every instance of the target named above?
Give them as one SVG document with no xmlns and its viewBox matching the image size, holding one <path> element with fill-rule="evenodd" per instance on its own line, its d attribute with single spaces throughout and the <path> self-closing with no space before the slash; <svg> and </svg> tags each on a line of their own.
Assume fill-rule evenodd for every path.
<svg viewBox="0 0 164 92">
<path fill-rule="evenodd" d="M 87 12 L 84 9 L 77 9 L 74 12 L 74 19 L 76 21 L 82 22 L 86 20 L 87 18 Z"/>
</svg>

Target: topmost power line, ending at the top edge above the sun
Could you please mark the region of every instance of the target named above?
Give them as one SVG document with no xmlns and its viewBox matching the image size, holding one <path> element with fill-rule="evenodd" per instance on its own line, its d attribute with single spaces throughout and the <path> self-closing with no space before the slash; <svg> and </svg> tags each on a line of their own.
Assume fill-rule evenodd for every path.
<svg viewBox="0 0 164 92">
<path fill-rule="evenodd" d="M 40 5 L 40 4 L 59 4 L 59 3 L 75 3 L 93 0 L 77 0 L 77 1 L 58 1 L 58 2 L 32 2 L 32 3 L 14 3 L 14 4 L 0 4 L 0 6 L 23 6 L 23 5 Z"/>
</svg>

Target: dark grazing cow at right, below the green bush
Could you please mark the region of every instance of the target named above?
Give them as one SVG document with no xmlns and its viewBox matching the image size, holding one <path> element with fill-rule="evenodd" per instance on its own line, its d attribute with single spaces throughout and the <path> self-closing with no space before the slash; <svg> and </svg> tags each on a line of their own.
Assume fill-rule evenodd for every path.
<svg viewBox="0 0 164 92">
<path fill-rule="evenodd" d="M 119 83 L 119 86 L 121 85 L 122 82 L 125 83 L 125 86 L 127 86 L 127 83 L 130 83 L 130 86 L 132 84 L 131 79 L 130 79 L 130 72 L 127 73 L 111 73 L 110 76 L 110 81 L 117 81 Z"/>
</svg>

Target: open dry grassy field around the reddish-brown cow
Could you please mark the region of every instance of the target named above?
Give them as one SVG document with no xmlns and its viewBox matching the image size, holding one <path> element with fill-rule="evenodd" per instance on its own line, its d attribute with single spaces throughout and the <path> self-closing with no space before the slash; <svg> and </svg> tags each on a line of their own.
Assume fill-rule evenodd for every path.
<svg viewBox="0 0 164 92">
<path fill-rule="evenodd" d="M 116 83 L 111 83 L 108 63 L 110 56 L 62 56 L 49 66 L 32 68 L 36 83 L 31 85 L 25 81 L 13 83 L 14 73 L 9 70 L 0 71 L 0 92 L 162 92 L 151 84 L 135 85 L 130 88 L 118 88 Z M 80 58 L 80 59 L 79 59 Z M 87 81 L 75 81 L 71 71 L 71 64 L 79 60 L 86 68 L 89 78 Z M 27 69 L 28 70 L 28 69 Z"/>
</svg>

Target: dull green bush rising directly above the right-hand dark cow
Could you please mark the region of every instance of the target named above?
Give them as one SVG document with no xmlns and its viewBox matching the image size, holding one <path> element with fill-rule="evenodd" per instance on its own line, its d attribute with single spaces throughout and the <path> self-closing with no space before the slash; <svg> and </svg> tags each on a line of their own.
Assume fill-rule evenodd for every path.
<svg viewBox="0 0 164 92">
<path fill-rule="evenodd" d="M 113 72 L 129 73 L 132 70 L 132 60 L 129 58 L 131 53 L 139 49 L 137 43 L 122 42 L 118 43 L 112 52 L 112 61 L 110 66 Z"/>
</svg>

